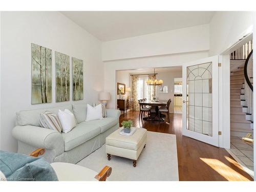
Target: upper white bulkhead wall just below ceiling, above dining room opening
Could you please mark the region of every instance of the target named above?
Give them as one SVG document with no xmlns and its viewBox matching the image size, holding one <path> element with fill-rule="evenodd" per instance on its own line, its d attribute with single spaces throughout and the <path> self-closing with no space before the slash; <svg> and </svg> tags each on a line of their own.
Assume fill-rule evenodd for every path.
<svg viewBox="0 0 256 192">
<path fill-rule="evenodd" d="M 102 42 L 102 60 L 209 50 L 209 25 Z"/>
</svg>

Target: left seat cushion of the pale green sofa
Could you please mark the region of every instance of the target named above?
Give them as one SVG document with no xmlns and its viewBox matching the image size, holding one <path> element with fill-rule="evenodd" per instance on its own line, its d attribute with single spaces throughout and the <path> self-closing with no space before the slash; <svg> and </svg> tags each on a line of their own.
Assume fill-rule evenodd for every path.
<svg viewBox="0 0 256 192">
<path fill-rule="evenodd" d="M 75 128 L 72 129 L 72 131 L 68 133 L 61 133 L 66 152 L 99 134 L 100 126 L 96 123 L 88 124 L 86 121 L 79 123 Z"/>
</svg>

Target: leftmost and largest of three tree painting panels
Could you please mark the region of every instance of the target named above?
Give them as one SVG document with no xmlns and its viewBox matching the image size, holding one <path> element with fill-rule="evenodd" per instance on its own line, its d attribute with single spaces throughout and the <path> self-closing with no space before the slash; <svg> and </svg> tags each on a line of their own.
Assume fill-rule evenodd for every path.
<svg viewBox="0 0 256 192">
<path fill-rule="evenodd" d="M 31 103 L 52 102 L 52 50 L 31 44 Z"/>
</svg>

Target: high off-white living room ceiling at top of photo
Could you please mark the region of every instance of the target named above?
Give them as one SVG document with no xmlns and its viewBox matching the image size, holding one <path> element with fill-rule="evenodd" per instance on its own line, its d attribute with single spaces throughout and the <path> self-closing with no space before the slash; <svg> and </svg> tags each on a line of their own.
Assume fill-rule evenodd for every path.
<svg viewBox="0 0 256 192">
<path fill-rule="evenodd" d="M 208 24 L 214 11 L 61 11 L 101 41 Z"/>
</svg>

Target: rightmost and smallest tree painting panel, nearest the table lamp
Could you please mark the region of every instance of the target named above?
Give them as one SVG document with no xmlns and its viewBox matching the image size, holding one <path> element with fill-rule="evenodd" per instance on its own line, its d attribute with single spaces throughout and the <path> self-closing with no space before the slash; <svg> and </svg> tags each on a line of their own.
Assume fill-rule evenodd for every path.
<svg viewBox="0 0 256 192">
<path fill-rule="evenodd" d="M 72 57 L 73 100 L 83 99 L 83 61 Z"/>
</svg>

